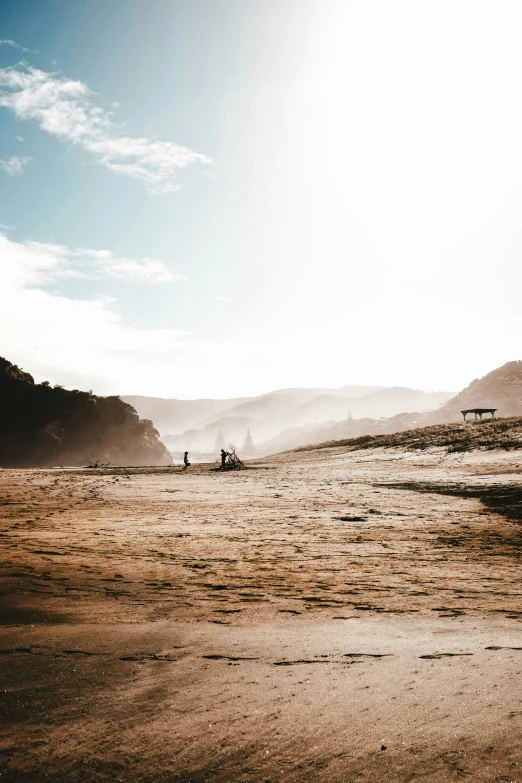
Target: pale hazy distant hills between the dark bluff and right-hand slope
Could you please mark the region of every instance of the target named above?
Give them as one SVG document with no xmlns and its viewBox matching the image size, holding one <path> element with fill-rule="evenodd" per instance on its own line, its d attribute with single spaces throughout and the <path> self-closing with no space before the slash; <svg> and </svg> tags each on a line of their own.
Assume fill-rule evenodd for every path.
<svg viewBox="0 0 522 783">
<path fill-rule="evenodd" d="M 282 433 L 307 433 L 352 418 L 381 418 L 404 411 L 439 407 L 453 392 L 425 392 L 403 387 L 348 385 L 336 389 L 280 389 L 236 400 L 166 400 L 124 395 L 141 416 L 150 418 L 172 451 L 214 451 L 222 433 L 225 443 L 243 442 L 250 429 L 260 451 L 286 448 Z M 273 441 L 273 443 L 272 443 Z M 302 445 L 299 443 L 299 445 Z"/>
</svg>

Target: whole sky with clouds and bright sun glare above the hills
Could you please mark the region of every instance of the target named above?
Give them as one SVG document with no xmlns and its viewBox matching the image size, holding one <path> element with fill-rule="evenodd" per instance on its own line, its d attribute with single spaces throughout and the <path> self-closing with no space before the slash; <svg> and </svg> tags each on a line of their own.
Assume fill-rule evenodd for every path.
<svg viewBox="0 0 522 783">
<path fill-rule="evenodd" d="M 98 394 L 521 358 L 522 5 L 0 0 L 0 355 Z"/>
</svg>

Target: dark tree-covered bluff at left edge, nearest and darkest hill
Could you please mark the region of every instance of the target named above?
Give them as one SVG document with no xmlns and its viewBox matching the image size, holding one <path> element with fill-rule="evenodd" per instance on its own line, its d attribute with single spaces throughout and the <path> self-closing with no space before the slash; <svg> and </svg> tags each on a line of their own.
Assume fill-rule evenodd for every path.
<svg viewBox="0 0 522 783">
<path fill-rule="evenodd" d="M 0 358 L 0 467 L 170 465 L 158 436 L 119 397 L 36 384 Z"/>
</svg>

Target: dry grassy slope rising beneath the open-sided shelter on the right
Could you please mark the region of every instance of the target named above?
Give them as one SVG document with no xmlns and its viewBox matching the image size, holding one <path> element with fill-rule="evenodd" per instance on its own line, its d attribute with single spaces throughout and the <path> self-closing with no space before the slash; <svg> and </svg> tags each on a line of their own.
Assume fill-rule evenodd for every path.
<svg viewBox="0 0 522 783">
<path fill-rule="evenodd" d="M 303 446 L 296 451 L 311 451 L 346 446 L 350 451 L 373 448 L 402 448 L 408 451 L 438 447 L 448 452 L 476 449 L 522 448 L 522 416 L 509 419 L 483 419 L 452 424 L 419 427 L 390 435 L 363 435 L 360 438 L 328 441 Z"/>
</svg>

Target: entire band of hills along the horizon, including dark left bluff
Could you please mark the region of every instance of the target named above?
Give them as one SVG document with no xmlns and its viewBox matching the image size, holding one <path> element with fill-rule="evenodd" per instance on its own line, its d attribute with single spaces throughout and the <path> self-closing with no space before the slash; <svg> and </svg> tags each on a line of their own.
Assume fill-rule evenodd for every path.
<svg viewBox="0 0 522 783">
<path fill-rule="evenodd" d="M 281 389 L 229 400 L 168 400 L 99 397 L 36 384 L 31 375 L 0 358 L 0 467 L 95 460 L 166 465 L 172 458 L 164 444 L 173 451 L 212 451 L 220 438 L 240 444 L 247 429 L 258 453 L 270 454 L 459 422 L 461 410 L 467 408 L 496 408 L 498 417 L 522 416 L 522 361 L 504 364 L 456 395 L 343 386 Z"/>
</svg>

